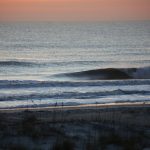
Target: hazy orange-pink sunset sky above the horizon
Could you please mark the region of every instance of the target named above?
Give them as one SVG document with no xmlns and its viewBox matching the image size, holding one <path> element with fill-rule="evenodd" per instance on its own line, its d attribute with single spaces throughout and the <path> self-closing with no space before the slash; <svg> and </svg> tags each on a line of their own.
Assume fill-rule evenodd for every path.
<svg viewBox="0 0 150 150">
<path fill-rule="evenodd" d="M 150 0 L 0 0 L 0 21 L 150 20 Z"/>
</svg>

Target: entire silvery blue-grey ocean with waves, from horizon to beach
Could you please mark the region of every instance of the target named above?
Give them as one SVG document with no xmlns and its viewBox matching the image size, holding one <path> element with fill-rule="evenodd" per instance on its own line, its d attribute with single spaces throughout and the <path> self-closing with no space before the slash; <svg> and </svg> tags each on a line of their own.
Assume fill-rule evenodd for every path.
<svg viewBox="0 0 150 150">
<path fill-rule="evenodd" d="M 150 101 L 150 21 L 0 23 L 0 108 Z"/>
</svg>

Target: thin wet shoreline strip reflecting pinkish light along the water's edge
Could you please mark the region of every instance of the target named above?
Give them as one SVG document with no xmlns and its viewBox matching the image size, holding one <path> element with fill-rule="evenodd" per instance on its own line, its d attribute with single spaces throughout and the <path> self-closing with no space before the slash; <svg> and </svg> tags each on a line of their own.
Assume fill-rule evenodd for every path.
<svg viewBox="0 0 150 150">
<path fill-rule="evenodd" d="M 83 109 L 107 109 L 120 107 L 150 107 L 150 102 L 125 102 L 125 103 L 105 103 L 105 104 L 80 104 L 80 105 L 59 105 L 59 106 L 41 106 L 41 107 L 16 107 L 0 108 L 0 112 L 15 111 L 54 111 L 54 110 L 83 110 Z"/>
</svg>

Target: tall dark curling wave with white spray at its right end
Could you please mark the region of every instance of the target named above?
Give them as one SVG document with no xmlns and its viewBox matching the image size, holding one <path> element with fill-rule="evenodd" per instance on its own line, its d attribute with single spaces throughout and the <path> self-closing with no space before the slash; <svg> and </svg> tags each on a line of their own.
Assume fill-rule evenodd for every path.
<svg viewBox="0 0 150 150">
<path fill-rule="evenodd" d="M 81 72 L 64 73 L 56 77 L 69 77 L 82 80 L 123 80 L 150 79 L 150 67 L 143 68 L 106 68 Z"/>
</svg>

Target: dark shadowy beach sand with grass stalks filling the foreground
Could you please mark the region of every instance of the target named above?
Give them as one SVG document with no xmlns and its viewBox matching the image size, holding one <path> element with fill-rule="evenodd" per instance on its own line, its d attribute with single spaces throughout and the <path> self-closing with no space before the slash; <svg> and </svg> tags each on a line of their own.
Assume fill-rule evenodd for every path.
<svg viewBox="0 0 150 150">
<path fill-rule="evenodd" d="M 149 103 L 0 110 L 0 150 L 149 148 Z"/>
</svg>

